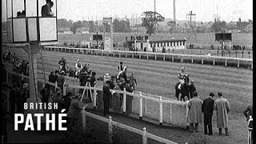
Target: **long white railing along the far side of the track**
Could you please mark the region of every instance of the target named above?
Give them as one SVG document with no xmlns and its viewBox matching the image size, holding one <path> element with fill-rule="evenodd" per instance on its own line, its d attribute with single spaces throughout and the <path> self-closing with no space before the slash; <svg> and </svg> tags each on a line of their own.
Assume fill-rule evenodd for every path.
<svg viewBox="0 0 256 144">
<path fill-rule="evenodd" d="M 223 62 L 224 66 L 227 66 L 228 63 L 236 63 L 237 67 L 240 67 L 240 62 L 249 62 L 247 64 L 253 69 L 253 59 L 250 58 L 231 58 L 231 57 L 218 57 L 218 56 L 207 56 L 207 55 L 195 55 L 195 54 L 168 54 L 168 53 L 152 53 L 152 52 L 142 52 L 142 51 L 122 51 L 122 50 L 99 50 L 99 49 L 86 49 L 86 48 L 70 48 L 70 47 L 55 47 L 55 46 L 44 46 L 44 50 L 50 50 L 54 52 L 70 52 L 77 54 L 96 54 L 96 55 L 106 55 L 106 56 L 118 56 L 119 58 L 131 58 L 138 57 L 142 59 L 142 57 L 146 57 L 149 59 L 150 57 L 154 58 L 154 60 L 158 60 L 159 58 L 162 61 L 166 61 L 167 58 L 171 59 L 171 62 L 174 62 L 175 59 L 179 59 L 180 62 L 184 62 L 184 60 L 189 59 L 191 63 L 194 63 L 194 60 L 201 60 L 201 64 L 204 64 L 205 61 L 210 61 L 212 65 L 215 65 L 215 62 Z"/>
</svg>

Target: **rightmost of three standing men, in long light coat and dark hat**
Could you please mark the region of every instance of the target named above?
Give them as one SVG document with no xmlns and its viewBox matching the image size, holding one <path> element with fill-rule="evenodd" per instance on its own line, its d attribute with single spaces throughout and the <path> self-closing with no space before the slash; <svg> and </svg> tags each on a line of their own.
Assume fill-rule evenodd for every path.
<svg viewBox="0 0 256 144">
<path fill-rule="evenodd" d="M 226 135 L 229 136 L 227 114 L 230 112 L 230 103 L 222 97 L 222 92 L 218 92 L 218 99 L 214 102 L 214 110 L 217 111 L 218 134 L 222 135 L 222 128 L 225 128 Z"/>
</svg>

